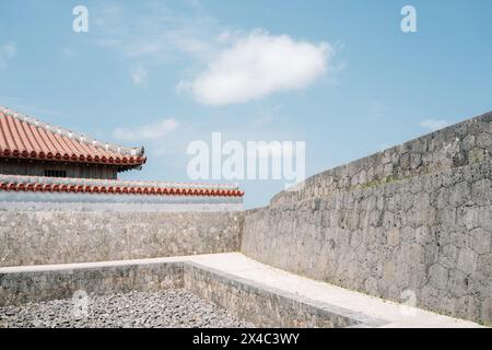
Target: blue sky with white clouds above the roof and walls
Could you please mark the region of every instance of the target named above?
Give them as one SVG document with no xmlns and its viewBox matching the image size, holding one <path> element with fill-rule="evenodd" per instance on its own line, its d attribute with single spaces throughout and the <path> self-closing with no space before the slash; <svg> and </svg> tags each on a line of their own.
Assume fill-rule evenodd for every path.
<svg viewBox="0 0 492 350">
<path fill-rule="evenodd" d="M 400 30 L 406 4 L 417 33 Z M 122 178 L 189 180 L 186 148 L 213 131 L 305 141 L 313 175 L 491 110 L 491 34 L 488 0 L 0 0 L 0 105 L 144 145 Z M 248 208 L 283 188 L 239 184 Z"/>
</svg>

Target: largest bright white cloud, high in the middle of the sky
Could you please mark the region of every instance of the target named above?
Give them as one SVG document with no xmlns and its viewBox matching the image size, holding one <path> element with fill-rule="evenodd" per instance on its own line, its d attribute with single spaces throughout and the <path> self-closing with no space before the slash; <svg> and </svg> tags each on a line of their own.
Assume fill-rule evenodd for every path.
<svg viewBox="0 0 492 350">
<path fill-rule="evenodd" d="M 226 105 L 301 90 L 327 71 L 332 54 L 327 43 L 257 30 L 221 50 L 206 71 L 191 82 L 180 82 L 178 91 L 189 90 L 202 104 Z"/>
</svg>

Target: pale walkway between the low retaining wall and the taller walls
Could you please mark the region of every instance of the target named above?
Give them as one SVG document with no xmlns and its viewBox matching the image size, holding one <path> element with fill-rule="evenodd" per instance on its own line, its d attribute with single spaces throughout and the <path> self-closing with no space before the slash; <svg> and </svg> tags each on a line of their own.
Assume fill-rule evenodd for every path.
<svg viewBox="0 0 492 350">
<path fill-rule="evenodd" d="M 327 303 L 367 316 L 385 319 L 385 327 L 480 327 L 480 325 L 457 319 L 420 308 L 405 306 L 363 293 L 350 291 L 326 282 L 296 276 L 268 265 L 255 261 L 241 253 L 224 253 L 196 256 L 166 257 L 154 259 L 101 261 L 83 264 L 22 266 L 0 268 L 0 273 L 92 268 L 134 264 L 155 264 L 165 261 L 192 261 L 231 273 L 277 290 L 283 290 L 313 301 Z"/>
</svg>

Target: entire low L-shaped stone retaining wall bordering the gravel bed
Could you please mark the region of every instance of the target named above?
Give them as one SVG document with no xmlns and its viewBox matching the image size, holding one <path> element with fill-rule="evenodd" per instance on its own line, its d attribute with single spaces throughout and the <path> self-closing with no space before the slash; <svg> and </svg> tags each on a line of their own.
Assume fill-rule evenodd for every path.
<svg viewBox="0 0 492 350">
<path fill-rule="evenodd" d="M 388 323 L 189 261 L 90 265 L 3 269 L 0 306 L 72 299 L 77 292 L 90 298 L 91 294 L 185 288 L 258 327 L 375 327 Z"/>
</svg>

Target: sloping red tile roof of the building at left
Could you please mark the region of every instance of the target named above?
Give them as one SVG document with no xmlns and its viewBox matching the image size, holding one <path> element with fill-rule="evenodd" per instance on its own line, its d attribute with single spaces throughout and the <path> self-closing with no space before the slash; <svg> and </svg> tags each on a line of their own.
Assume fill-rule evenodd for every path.
<svg viewBox="0 0 492 350">
<path fill-rule="evenodd" d="M 0 106 L 0 158 L 132 167 L 145 163 L 143 152 L 143 148 L 104 143 Z"/>
</svg>

